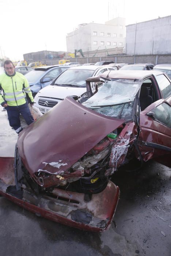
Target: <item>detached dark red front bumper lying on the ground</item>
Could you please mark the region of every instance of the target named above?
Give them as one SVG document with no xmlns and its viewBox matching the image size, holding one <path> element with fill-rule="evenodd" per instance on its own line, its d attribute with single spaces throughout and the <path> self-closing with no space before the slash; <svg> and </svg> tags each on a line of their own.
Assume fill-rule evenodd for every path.
<svg viewBox="0 0 171 256">
<path fill-rule="evenodd" d="M 14 158 L 0 157 L 0 194 L 23 208 L 64 225 L 102 232 L 109 228 L 119 199 L 119 188 L 111 181 L 92 197 L 54 188 L 39 195 L 15 190 Z"/>
</svg>

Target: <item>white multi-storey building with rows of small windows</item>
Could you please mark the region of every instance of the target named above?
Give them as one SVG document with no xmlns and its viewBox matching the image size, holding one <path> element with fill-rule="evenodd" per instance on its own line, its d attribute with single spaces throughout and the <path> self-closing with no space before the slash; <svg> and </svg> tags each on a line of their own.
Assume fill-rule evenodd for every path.
<svg viewBox="0 0 171 256">
<path fill-rule="evenodd" d="M 68 52 L 83 52 L 125 46 L 125 18 L 115 18 L 99 23 L 82 23 L 66 36 Z"/>
</svg>

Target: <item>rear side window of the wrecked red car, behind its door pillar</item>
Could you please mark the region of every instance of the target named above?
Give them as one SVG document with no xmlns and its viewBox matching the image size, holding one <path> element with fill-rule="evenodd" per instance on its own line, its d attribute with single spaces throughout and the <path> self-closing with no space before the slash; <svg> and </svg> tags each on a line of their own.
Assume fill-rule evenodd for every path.
<svg viewBox="0 0 171 256">
<path fill-rule="evenodd" d="M 163 94 L 163 98 L 167 98 L 171 95 L 171 83 L 167 77 L 165 75 L 158 75 L 156 76 L 156 80 Z"/>
</svg>

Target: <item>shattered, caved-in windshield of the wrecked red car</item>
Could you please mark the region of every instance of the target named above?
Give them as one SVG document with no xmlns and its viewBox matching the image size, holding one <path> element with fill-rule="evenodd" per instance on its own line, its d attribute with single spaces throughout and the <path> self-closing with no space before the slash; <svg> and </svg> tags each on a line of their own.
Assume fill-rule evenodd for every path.
<svg viewBox="0 0 171 256">
<path fill-rule="evenodd" d="M 106 81 L 98 92 L 83 105 L 105 116 L 130 117 L 140 86 L 139 80 L 113 79 Z"/>
</svg>

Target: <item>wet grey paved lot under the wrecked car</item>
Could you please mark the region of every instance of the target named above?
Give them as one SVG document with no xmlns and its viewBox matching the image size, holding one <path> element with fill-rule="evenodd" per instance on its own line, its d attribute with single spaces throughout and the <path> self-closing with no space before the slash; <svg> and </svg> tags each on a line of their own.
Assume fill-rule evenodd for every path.
<svg viewBox="0 0 171 256">
<path fill-rule="evenodd" d="M 18 136 L 0 107 L 0 156 L 14 156 Z M 1 255 L 170 256 L 171 169 L 153 161 L 140 172 L 117 172 L 114 221 L 91 233 L 39 218 L 0 197 Z"/>
</svg>

